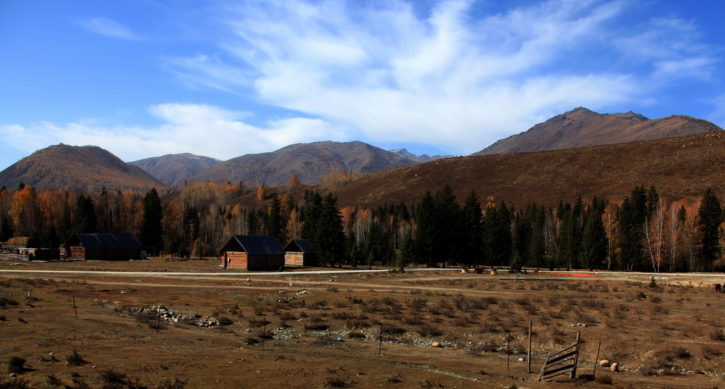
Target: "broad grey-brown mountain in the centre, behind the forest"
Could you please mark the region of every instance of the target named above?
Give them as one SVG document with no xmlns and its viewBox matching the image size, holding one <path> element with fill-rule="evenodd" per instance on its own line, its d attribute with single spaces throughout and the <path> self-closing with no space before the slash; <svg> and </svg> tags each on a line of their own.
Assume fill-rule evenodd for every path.
<svg viewBox="0 0 725 389">
<path fill-rule="evenodd" d="M 207 172 L 191 177 L 192 181 L 285 185 L 292 174 L 304 185 L 316 185 L 329 173 L 369 173 L 416 162 L 370 146 L 363 142 L 316 142 L 286 146 L 262 154 L 248 154 L 230 159 Z"/>
</svg>

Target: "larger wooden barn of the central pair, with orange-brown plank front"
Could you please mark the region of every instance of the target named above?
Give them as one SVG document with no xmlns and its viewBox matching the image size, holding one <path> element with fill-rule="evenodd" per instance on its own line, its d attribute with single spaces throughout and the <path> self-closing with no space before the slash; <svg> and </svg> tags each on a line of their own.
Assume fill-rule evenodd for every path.
<svg viewBox="0 0 725 389">
<path fill-rule="evenodd" d="M 284 250 L 269 235 L 233 235 L 221 249 L 225 269 L 253 271 L 284 267 Z"/>
</svg>

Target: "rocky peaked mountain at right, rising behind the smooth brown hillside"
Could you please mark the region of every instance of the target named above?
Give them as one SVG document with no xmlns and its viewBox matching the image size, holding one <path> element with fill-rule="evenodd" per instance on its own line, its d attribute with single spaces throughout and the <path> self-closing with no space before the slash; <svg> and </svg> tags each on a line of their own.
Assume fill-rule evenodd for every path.
<svg viewBox="0 0 725 389">
<path fill-rule="evenodd" d="M 689 116 L 675 115 L 649 120 L 634 112 L 598 114 L 579 107 L 539 123 L 524 133 L 497 141 L 486 149 L 471 155 L 576 149 L 712 133 L 718 130 L 722 129 L 711 122 Z"/>
</svg>

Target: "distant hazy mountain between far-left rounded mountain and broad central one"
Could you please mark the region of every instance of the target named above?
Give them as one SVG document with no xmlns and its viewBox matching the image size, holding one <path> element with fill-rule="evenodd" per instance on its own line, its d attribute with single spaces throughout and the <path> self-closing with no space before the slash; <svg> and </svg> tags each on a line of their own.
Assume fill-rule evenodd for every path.
<svg viewBox="0 0 725 389">
<path fill-rule="evenodd" d="M 166 185 L 174 185 L 183 183 L 183 180 L 189 177 L 206 172 L 220 162 L 219 159 L 209 156 L 183 153 L 139 159 L 138 161 L 128 162 L 128 164 L 141 167 L 141 169 Z"/>
</svg>

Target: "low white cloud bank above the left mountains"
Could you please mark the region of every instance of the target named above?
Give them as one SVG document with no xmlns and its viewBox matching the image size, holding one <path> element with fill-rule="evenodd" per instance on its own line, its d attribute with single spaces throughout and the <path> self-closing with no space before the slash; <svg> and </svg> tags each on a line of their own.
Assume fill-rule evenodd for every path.
<svg viewBox="0 0 725 389">
<path fill-rule="evenodd" d="M 34 151 L 51 143 L 94 145 L 125 161 L 149 156 L 191 152 L 231 159 L 244 154 L 273 151 L 291 143 L 315 139 L 342 141 L 347 136 L 323 120 L 291 118 L 273 120 L 265 127 L 245 123 L 249 114 L 202 104 L 159 104 L 149 112 L 163 121 L 157 127 L 100 127 L 82 123 L 65 126 L 38 122 L 29 127 L 0 125 L 0 136 L 17 148 Z"/>
</svg>

